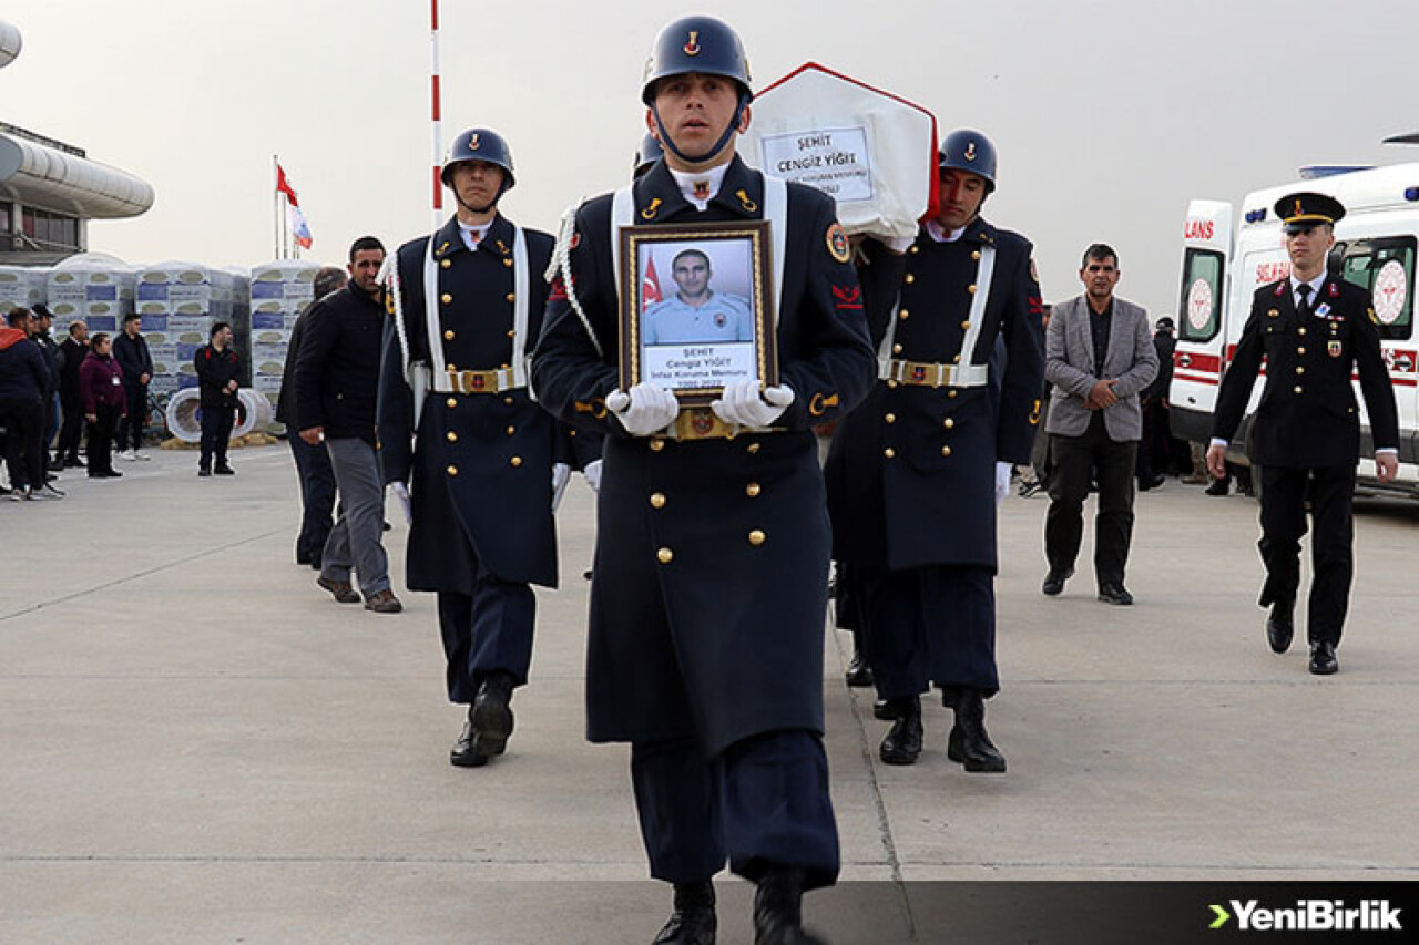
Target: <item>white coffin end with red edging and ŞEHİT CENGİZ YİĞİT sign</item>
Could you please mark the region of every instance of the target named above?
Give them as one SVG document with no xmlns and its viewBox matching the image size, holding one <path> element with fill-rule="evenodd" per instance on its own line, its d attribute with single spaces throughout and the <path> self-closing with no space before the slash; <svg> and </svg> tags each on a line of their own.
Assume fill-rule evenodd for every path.
<svg viewBox="0 0 1419 945">
<path fill-rule="evenodd" d="M 739 153 L 768 175 L 830 194 L 849 234 L 910 237 L 935 213 L 932 114 L 817 62 L 755 96 Z"/>
</svg>

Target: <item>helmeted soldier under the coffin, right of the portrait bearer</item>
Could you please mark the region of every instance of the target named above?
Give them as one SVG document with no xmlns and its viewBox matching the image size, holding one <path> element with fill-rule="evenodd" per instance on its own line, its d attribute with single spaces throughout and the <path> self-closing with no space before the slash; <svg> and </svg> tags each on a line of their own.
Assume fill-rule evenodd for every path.
<svg viewBox="0 0 1419 945">
<path fill-rule="evenodd" d="M 1030 243 L 981 217 L 995 190 L 990 140 L 951 133 L 939 175 L 941 213 L 914 241 L 863 244 L 880 369 L 866 403 L 833 436 L 824 470 L 833 556 L 883 714 L 895 719 L 881 759 L 917 761 L 921 692 L 935 682 L 955 709 L 948 758 L 969 772 L 1003 772 L 985 731 L 985 700 L 1000 688 L 995 495 L 1009 464 L 1030 460 L 1044 383 L 1043 302 Z M 998 338 L 1003 362 L 992 359 Z"/>
</svg>

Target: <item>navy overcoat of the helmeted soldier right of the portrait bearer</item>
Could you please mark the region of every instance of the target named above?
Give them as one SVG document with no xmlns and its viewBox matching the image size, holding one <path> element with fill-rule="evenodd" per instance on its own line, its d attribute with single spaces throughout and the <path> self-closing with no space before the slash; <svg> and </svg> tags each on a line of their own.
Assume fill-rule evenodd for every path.
<svg viewBox="0 0 1419 945">
<path fill-rule="evenodd" d="M 996 247 L 986 321 L 975 350 L 962 352 L 986 244 Z M 979 219 L 954 243 L 922 230 L 901 255 L 864 243 L 860 275 L 874 345 L 895 318 L 894 359 L 985 365 L 998 336 L 1006 358 L 998 397 L 993 376 L 976 387 L 878 380 L 839 424 L 826 464 L 837 560 L 887 570 L 995 568 L 995 463 L 1030 461 L 1044 386 L 1030 250 L 1025 237 Z"/>
</svg>

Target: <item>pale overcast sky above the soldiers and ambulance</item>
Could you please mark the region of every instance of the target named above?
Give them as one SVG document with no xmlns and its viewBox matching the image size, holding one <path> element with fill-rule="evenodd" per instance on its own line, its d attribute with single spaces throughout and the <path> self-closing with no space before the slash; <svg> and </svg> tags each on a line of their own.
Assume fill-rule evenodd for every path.
<svg viewBox="0 0 1419 945">
<path fill-rule="evenodd" d="M 670 20 L 734 26 L 756 87 L 813 60 L 975 126 L 1000 150 L 995 224 L 1029 236 L 1047 299 L 1114 244 L 1118 292 L 1174 312 L 1189 197 L 1239 201 L 1308 163 L 1395 163 L 1419 129 L 1415 0 L 443 0 L 444 140 L 512 143 L 504 211 L 552 230 L 620 186 L 643 133 L 640 75 Z M 339 262 L 375 233 L 429 228 L 426 0 L 10 0 L 24 51 L 0 121 L 153 184 L 91 248 L 131 262 L 272 257 L 271 156 Z M 1419 169 L 1415 183 L 1419 184 Z"/>
</svg>

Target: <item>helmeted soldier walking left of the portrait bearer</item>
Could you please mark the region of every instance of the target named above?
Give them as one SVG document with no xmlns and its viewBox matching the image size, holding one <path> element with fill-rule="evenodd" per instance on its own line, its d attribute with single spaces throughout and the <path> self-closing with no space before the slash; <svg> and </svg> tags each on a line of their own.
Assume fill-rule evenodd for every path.
<svg viewBox="0 0 1419 945">
<path fill-rule="evenodd" d="M 454 216 L 386 265 L 394 318 L 379 441 L 385 481 L 412 508 L 409 589 L 438 593 L 448 700 L 468 705 L 450 761 L 478 768 L 512 734 L 512 690 L 532 658 L 531 585 L 556 586 L 558 430 L 526 385 L 553 241 L 498 211 L 515 177 L 495 132 L 458 135 L 443 183 Z"/>
</svg>

